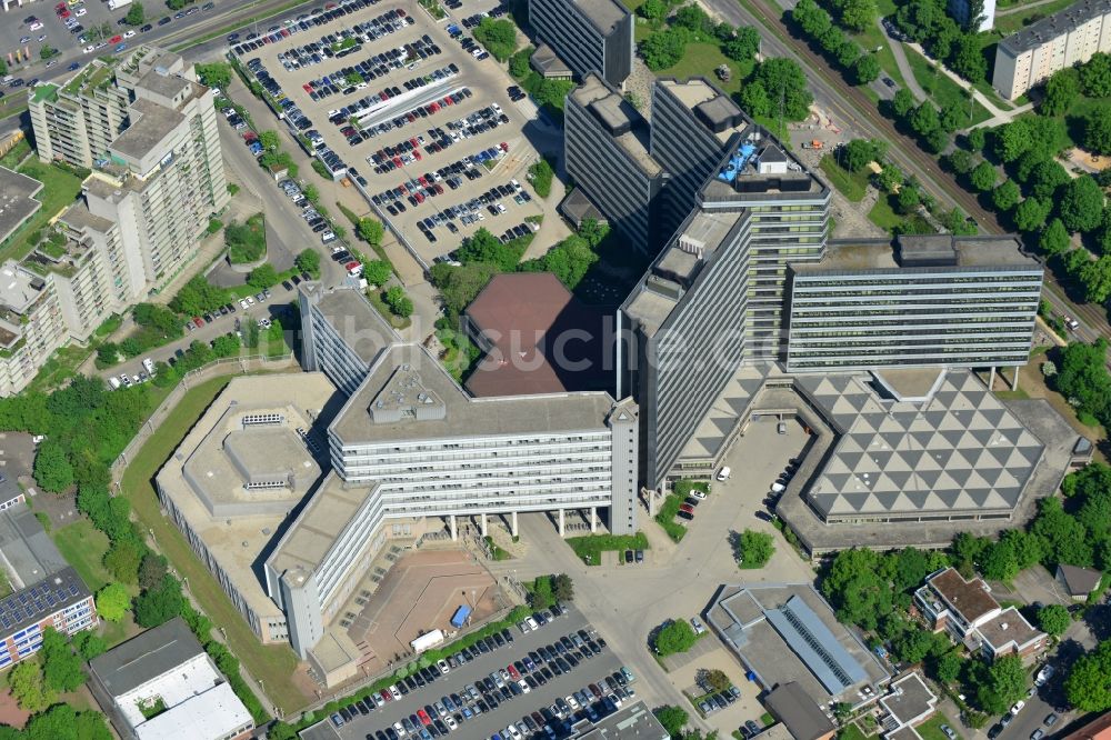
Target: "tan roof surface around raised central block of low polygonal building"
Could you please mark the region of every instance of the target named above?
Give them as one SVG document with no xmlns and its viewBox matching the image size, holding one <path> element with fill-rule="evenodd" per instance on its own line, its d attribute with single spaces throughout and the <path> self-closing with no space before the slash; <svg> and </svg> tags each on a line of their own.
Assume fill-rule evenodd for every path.
<svg viewBox="0 0 1111 740">
<path fill-rule="evenodd" d="M 320 372 L 232 379 L 158 473 L 160 498 L 172 503 L 259 614 L 281 612 L 259 580 L 259 562 L 280 537 L 290 512 L 311 496 L 321 478 L 320 462 L 309 454 L 296 429 L 316 427 L 310 434 L 319 440 L 321 450 L 327 449 L 322 428 L 341 401 Z M 249 439 L 256 432 L 247 431 L 241 446 L 246 450 L 243 460 L 248 467 L 258 466 L 264 471 L 273 466 L 287 470 L 296 466 L 303 473 L 292 488 L 244 490 L 243 469 L 224 449 L 230 434 L 246 431 L 244 417 L 263 413 L 284 414 L 286 421 L 259 427 L 261 436 L 256 439 Z M 271 447 L 274 432 L 283 439 Z M 291 456 L 293 459 L 288 459 Z"/>
</svg>

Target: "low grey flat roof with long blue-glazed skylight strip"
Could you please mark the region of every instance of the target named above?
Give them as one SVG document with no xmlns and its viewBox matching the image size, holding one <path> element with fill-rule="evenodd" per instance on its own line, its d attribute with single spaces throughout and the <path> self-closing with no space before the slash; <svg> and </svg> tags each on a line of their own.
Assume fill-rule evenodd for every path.
<svg viewBox="0 0 1111 740">
<path fill-rule="evenodd" d="M 705 614 L 761 687 L 799 683 L 815 704 L 858 703 L 888 672 L 809 583 L 725 586 Z"/>
</svg>

